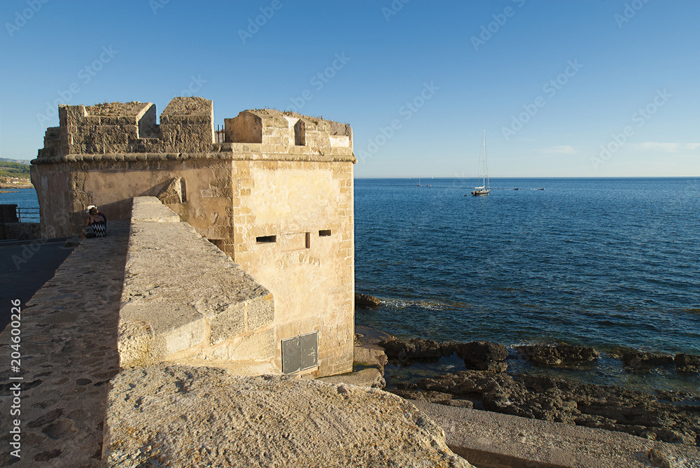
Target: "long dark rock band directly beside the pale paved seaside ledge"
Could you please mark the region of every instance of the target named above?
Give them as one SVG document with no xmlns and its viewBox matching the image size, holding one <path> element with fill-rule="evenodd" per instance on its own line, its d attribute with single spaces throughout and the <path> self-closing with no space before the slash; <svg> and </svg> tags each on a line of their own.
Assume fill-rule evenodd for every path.
<svg viewBox="0 0 700 468">
<path fill-rule="evenodd" d="M 617 386 L 588 385 L 546 376 L 461 371 L 424 378 L 430 392 L 480 399 L 484 409 L 525 418 L 599 427 L 673 444 L 700 446 L 700 397 L 671 395 L 673 403 Z"/>
</svg>

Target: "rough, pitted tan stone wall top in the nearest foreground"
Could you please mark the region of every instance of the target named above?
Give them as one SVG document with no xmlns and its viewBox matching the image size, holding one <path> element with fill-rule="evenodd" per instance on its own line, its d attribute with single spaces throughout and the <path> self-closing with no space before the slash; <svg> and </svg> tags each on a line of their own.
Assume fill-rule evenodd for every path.
<svg viewBox="0 0 700 468">
<path fill-rule="evenodd" d="M 381 390 L 160 364 L 111 382 L 108 467 L 471 467 Z"/>
</svg>

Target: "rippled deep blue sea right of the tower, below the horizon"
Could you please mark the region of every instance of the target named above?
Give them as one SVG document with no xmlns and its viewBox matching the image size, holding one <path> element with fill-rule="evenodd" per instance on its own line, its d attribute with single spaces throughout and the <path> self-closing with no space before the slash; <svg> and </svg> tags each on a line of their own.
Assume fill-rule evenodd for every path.
<svg viewBox="0 0 700 468">
<path fill-rule="evenodd" d="M 358 325 L 700 354 L 700 178 L 417 183 L 355 180 Z"/>
</svg>

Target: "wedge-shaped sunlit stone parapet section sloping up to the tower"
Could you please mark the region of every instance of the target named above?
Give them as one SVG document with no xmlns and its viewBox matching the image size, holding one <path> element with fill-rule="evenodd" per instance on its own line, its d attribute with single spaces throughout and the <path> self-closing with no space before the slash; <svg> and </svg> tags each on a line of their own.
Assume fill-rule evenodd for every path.
<svg viewBox="0 0 700 468">
<path fill-rule="evenodd" d="M 159 199 L 134 199 L 119 318 L 121 367 L 163 360 L 272 364 L 273 321 L 266 288 Z"/>
</svg>

